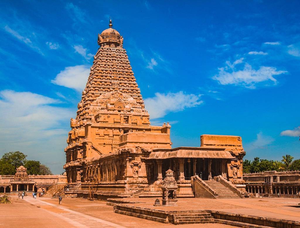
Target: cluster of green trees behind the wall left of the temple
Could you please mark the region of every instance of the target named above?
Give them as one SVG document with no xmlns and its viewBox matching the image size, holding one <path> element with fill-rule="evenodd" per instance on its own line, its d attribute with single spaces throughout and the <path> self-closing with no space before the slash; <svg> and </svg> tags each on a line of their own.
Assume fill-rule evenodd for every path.
<svg viewBox="0 0 300 228">
<path fill-rule="evenodd" d="M 27 160 L 26 157 L 19 151 L 4 153 L 0 159 L 0 175 L 14 175 L 21 165 L 27 168 L 29 175 L 52 175 L 48 166 L 39 161 Z"/>
</svg>

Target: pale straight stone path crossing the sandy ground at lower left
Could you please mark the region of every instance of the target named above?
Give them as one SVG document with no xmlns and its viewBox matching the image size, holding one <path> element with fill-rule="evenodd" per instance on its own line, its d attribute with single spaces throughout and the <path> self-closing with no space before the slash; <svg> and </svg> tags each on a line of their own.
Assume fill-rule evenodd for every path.
<svg viewBox="0 0 300 228">
<path fill-rule="evenodd" d="M 47 210 L 50 214 L 55 215 L 59 219 L 62 219 L 73 227 L 82 227 L 82 228 L 94 228 L 94 227 L 115 227 L 115 228 L 125 228 L 118 224 L 102 220 L 100 218 L 95 218 L 90 215 L 85 215 L 80 212 L 76 212 L 70 209 L 67 209 L 64 206 L 55 205 L 48 203 L 39 199 L 26 198 L 28 203 L 40 206 L 42 209 Z M 49 207 L 50 206 L 50 207 Z"/>
</svg>

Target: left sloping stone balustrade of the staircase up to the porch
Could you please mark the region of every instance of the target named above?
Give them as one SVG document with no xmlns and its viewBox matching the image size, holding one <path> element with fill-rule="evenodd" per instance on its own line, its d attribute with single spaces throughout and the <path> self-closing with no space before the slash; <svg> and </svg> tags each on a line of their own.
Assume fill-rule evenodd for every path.
<svg viewBox="0 0 300 228">
<path fill-rule="evenodd" d="M 217 198 L 218 193 L 211 189 L 198 175 L 190 178 L 195 197 Z"/>
</svg>

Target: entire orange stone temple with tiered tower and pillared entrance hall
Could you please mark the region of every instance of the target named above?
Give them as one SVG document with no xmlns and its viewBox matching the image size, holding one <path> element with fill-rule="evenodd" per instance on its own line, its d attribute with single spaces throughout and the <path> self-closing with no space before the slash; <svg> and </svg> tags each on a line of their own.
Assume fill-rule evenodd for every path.
<svg viewBox="0 0 300 228">
<path fill-rule="evenodd" d="M 234 185 L 243 183 L 245 155 L 241 137 L 202 135 L 200 147 L 172 148 L 170 124 L 150 124 L 123 37 L 111 22 L 98 34 L 98 45 L 65 148 L 67 182 L 76 194 L 161 196 L 170 169 L 177 197 L 193 197 L 199 186 L 213 192 L 211 183 L 220 178 L 238 195 Z"/>
</svg>

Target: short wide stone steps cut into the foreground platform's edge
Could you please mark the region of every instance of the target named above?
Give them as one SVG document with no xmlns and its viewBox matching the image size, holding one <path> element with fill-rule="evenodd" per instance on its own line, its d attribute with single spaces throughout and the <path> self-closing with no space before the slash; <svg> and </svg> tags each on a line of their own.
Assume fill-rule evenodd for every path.
<svg viewBox="0 0 300 228">
<path fill-rule="evenodd" d="M 208 212 L 191 212 L 174 214 L 174 224 L 214 223 Z"/>
</svg>

